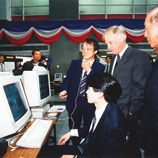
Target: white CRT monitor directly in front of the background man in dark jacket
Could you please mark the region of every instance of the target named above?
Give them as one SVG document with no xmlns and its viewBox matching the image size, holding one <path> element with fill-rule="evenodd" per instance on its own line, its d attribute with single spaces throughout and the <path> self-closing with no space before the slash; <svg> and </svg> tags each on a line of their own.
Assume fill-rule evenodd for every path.
<svg viewBox="0 0 158 158">
<path fill-rule="evenodd" d="M 49 71 L 24 71 L 22 81 L 30 107 L 42 106 L 50 101 Z"/>
</svg>

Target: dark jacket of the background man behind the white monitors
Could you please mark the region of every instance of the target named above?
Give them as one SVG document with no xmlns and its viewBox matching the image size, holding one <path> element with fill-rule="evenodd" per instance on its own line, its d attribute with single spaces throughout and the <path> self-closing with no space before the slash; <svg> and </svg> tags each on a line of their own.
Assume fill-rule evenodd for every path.
<svg viewBox="0 0 158 158">
<path fill-rule="evenodd" d="M 21 69 L 22 73 L 23 73 L 23 71 L 32 71 L 32 69 L 33 69 L 33 67 L 34 67 L 33 63 L 34 63 L 33 60 L 25 62 L 25 63 L 23 64 L 22 69 Z M 45 67 L 45 65 L 44 65 L 43 63 L 41 63 L 41 62 L 38 63 L 38 66 L 43 66 L 45 69 L 47 69 L 47 68 Z"/>
</svg>

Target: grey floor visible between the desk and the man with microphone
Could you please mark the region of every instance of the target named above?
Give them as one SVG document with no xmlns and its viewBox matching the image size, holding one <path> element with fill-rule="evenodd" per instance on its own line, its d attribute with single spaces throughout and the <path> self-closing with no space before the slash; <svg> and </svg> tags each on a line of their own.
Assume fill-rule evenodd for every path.
<svg viewBox="0 0 158 158">
<path fill-rule="evenodd" d="M 55 105 L 65 105 L 66 103 L 66 99 L 61 99 L 58 95 L 53 95 L 51 98 L 51 105 L 55 106 Z M 64 135 L 65 133 L 67 133 L 69 131 L 69 127 L 68 127 L 68 114 L 67 114 L 67 110 L 64 110 L 56 123 L 56 136 L 57 136 L 57 144 L 59 142 L 59 139 L 62 135 Z M 52 131 L 51 135 L 53 135 L 54 131 Z M 49 145 L 53 145 L 53 143 L 49 143 Z"/>
</svg>

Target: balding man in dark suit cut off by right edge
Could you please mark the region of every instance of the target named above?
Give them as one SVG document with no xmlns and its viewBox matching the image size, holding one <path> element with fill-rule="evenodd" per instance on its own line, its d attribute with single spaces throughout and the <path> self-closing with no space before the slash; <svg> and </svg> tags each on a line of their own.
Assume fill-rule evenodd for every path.
<svg viewBox="0 0 158 158">
<path fill-rule="evenodd" d="M 145 37 L 158 55 L 158 6 L 145 19 Z M 146 88 L 146 104 L 139 133 L 139 145 L 146 158 L 158 157 L 158 59 L 149 75 Z"/>
</svg>

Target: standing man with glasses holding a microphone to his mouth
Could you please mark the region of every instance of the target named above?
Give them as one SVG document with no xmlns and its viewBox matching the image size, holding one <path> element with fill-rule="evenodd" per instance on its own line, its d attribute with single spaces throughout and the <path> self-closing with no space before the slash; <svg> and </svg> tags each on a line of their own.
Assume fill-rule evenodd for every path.
<svg viewBox="0 0 158 158">
<path fill-rule="evenodd" d="M 99 50 L 98 42 L 94 39 L 86 39 L 82 46 L 83 59 L 73 60 L 67 71 L 66 78 L 61 85 L 61 99 L 67 98 L 66 109 L 69 115 L 69 128 L 79 129 L 83 118 L 83 126 L 89 126 L 95 110 L 94 105 L 87 101 L 86 80 L 88 76 L 96 72 L 104 72 L 105 66 L 95 61 L 95 55 Z M 74 145 L 80 139 L 72 139 Z"/>
</svg>

